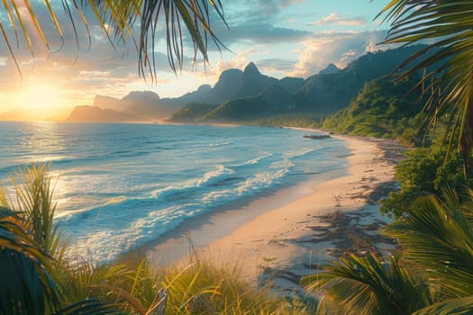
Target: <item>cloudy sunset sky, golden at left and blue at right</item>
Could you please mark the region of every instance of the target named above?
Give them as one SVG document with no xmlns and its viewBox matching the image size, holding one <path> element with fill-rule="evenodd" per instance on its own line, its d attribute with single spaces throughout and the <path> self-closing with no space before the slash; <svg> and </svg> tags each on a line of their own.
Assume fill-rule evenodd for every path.
<svg viewBox="0 0 473 315">
<path fill-rule="evenodd" d="M 211 26 L 227 49 L 210 47 L 209 64 L 204 67 L 201 58 L 192 62 L 193 49 L 185 38 L 185 65 L 175 74 L 168 66 L 165 39 L 159 31 L 157 79 L 150 84 L 138 74 L 136 49 L 132 45 L 114 49 L 92 14 L 88 20 L 91 47 L 87 48 L 86 30 L 79 22 L 77 48 L 72 26 L 62 8 L 56 8 L 59 23 L 64 25 L 61 48 L 44 5 L 40 0 L 32 3 L 39 8 L 38 20 L 50 51 L 34 38 L 34 57 L 22 38 L 16 47 L 8 16 L 0 11 L 0 21 L 11 36 L 21 65 L 20 76 L 2 41 L 0 112 L 21 107 L 52 111 L 91 104 L 96 94 L 121 98 L 130 91 L 149 90 L 160 97 L 175 97 L 199 85 L 214 85 L 223 70 L 243 69 L 250 61 L 268 76 L 305 78 L 330 63 L 345 67 L 368 51 L 387 49 L 378 43 L 386 37 L 389 25 L 374 18 L 388 0 L 223 0 L 228 28 L 216 16 Z"/>
</svg>

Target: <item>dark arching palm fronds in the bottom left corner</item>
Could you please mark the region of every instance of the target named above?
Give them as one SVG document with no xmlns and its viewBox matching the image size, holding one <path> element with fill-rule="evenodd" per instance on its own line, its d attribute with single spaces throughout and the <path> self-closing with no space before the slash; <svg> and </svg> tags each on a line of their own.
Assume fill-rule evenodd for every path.
<svg viewBox="0 0 473 315">
<path fill-rule="evenodd" d="M 57 310 L 63 295 L 50 257 L 23 227 L 22 218 L 0 218 L 0 312 L 41 314 Z"/>
</svg>

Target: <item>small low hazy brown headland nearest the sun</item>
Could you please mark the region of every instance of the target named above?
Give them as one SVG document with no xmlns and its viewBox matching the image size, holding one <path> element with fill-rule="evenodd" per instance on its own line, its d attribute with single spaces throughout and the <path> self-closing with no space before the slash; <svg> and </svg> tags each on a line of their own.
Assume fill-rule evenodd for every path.
<svg viewBox="0 0 473 315">
<path fill-rule="evenodd" d="M 141 118 L 117 112 L 108 108 L 102 109 L 94 106 L 76 106 L 66 121 L 69 122 L 132 122 L 142 121 Z"/>
</svg>

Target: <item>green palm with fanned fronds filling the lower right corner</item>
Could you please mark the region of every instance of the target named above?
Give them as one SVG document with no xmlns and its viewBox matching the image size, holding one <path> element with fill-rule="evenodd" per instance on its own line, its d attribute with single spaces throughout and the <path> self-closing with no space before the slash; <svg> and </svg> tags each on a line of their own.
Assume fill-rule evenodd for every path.
<svg viewBox="0 0 473 315">
<path fill-rule="evenodd" d="M 449 190 L 419 197 L 383 233 L 397 240 L 398 259 L 350 255 L 303 279 L 321 294 L 321 311 L 471 313 L 473 192 L 463 203 Z"/>
</svg>

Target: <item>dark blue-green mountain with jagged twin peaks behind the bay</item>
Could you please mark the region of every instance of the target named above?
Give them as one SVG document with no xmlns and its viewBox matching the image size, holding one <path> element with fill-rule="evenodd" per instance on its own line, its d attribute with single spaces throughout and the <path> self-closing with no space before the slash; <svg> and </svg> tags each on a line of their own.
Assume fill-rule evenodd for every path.
<svg viewBox="0 0 473 315">
<path fill-rule="evenodd" d="M 218 106 L 200 118 L 196 115 L 203 107 L 198 111 L 186 108 L 177 112 L 176 117 L 179 121 L 250 122 L 277 115 L 330 115 L 346 108 L 363 85 L 393 73 L 418 49 L 417 46 L 368 53 L 344 69 L 329 65 L 305 80 L 295 77 L 277 80 L 264 76 L 254 63 L 250 63 L 244 71 L 223 71 L 214 88 L 206 90 L 207 96 L 202 103 L 222 101 Z M 186 119 L 189 112 L 192 116 Z"/>
</svg>

